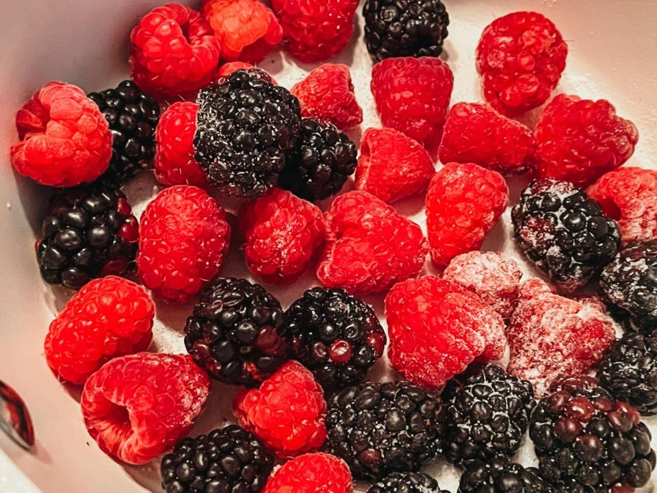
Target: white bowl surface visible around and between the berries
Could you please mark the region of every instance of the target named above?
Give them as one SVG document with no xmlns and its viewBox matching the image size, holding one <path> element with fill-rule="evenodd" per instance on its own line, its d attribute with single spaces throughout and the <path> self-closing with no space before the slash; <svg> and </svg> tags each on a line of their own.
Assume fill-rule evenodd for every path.
<svg viewBox="0 0 657 493">
<path fill-rule="evenodd" d="M 112 462 L 90 439 L 81 419 L 79 389 L 57 383 L 42 356 L 42 342 L 49 321 L 66 302 L 62 290 L 42 283 L 34 260 L 33 245 L 40 215 L 49 191 L 12 173 L 8 149 L 16 139 L 13 119 L 34 90 L 51 79 L 81 86 L 87 92 L 114 86 L 127 76 L 127 40 L 138 17 L 164 0 L 3 0 L 0 1 L 0 259 L 3 292 L 0 312 L 3 344 L 0 349 L 0 379 L 8 381 L 23 396 L 34 418 L 36 447 L 25 453 L 0 438 L 0 448 L 38 487 L 50 492 L 144 492 L 161 491 L 157 464 L 125 467 Z M 187 2 L 192 3 L 192 2 Z M 516 10 L 537 10 L 548 15 L 569 43 L 568 64 L 558 92 L 585 98 L 606 98 L 621 116 L 639 127 L 641 140 L 630 164 L 655 167 L 657 153 L 657 1 L 654 0 L 446 0 L 451 17 L 446 42 L 446 60 L 455 75 L 452 103 L 480 101 L 474 70 L 474 49 L 482 31 L 493 18 Z M 362 24 L 362 19 L 359 18 Z M 351 67 L 356 94 L 365 121 L 351 132 L 378 125 L 369 90 L 371 62 L 362 41 L 362 26 L 337 61 Z M 302 79 L 314 65 L 296 64 L 281 51 L 263 68 L 286 87 Z M 531 120 L 531 118 L 528 118 Z M 512 201 L 524 181 L 512 181 Z M 144 201 L 155 191 L 154 181 L 140 179 L 129 189 L 131 201 Z M 234 210 L 235 202 L 222 200 Z M 398 204 L 398 210 L 422 220 L 422 199 Z M 485 249 L 503 250 L 521 260 L 509 235 L 508 213 L 485 242 Z M 536 271 L 526 266 L 526 272 Z M 222 270 L 223 275 L 245 275 L 237 245 Z M 308 274 L 291 288 L 272 289 L 284 307 L 315 283 Z M 383 315 L 383 296 L 368 301 Z M 190 306 L 157 304 L 158 322 L 153 349 L 183 351 L 181 329 Z M 385 370 L 378 364 L 372 376 Z M 211 398 L 192 434 L 222 426 L 230 416 L 235 388 L 214 383 Z M 646 420 L 657 430 L 657 420 Z M 653 440 L 657 446 L 657 440 Z M 530 443 L 519 461 L 532 464 Z M 439 462 L 428 470 L 441 487 L 456 493 L 458 472 Z M 655 476 L 654 476 L 655 477 Z M 657 482 L 653 480 L 653 484 Z M 643 491 L 652 491 L 649 485 Z M 0 452 L 0 491 L 31 492 L 16 479 Z M 364 491 L 364 490 L 361 490 Z"/>
</svg>

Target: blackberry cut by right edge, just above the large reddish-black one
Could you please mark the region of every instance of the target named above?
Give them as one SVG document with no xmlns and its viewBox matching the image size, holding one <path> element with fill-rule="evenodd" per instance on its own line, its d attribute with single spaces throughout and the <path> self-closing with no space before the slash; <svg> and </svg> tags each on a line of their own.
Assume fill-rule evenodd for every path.
<svg viewBox="0 0 657 493">
<path fill-rule="evenodd" d="M 657 413 L 657 332 L 626 332 L 617 339 L 597 370 L 600 385 L 641 414 Z"/>
</svg>

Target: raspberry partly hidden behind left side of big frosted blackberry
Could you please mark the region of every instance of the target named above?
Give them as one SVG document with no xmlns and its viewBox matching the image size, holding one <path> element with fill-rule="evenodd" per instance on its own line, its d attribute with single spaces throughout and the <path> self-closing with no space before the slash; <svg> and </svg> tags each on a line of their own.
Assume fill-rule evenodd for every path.
<svg viewBox="0 0 657 493">
<path fill-rule="evenodd" d="M 194 158 L 198 105 L 179 101 L 170 105 L 155 131 L 155 177 L 164 185 L 209 186 L 205 171 Z"/>
</svg>

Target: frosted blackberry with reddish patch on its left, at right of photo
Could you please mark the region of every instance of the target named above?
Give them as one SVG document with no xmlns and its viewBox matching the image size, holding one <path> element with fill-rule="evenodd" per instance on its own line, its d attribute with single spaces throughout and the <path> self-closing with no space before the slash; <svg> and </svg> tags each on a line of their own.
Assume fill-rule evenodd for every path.
<svg viewBox="0 0 657 493">
<path fill-rule="evenodd" d="M 512 218 L 521 249 L 566 292 L 589 283 L 621 244 L 616 221 L 567 181 L 532 181 Z"/>
</svg>

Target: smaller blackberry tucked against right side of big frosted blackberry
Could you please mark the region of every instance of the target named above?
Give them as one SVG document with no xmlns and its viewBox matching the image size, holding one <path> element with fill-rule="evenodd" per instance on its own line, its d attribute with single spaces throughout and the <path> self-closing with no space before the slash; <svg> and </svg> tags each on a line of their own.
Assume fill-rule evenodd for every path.
<svg viewBox="0 0 657 493">
<path fill-rule="evenodd" d="M 354 173 L 356 156 L 356 144 L 335 125 L 303 118 L 279 186 L 309 201 L 327 199 Z"/>
</svg>

